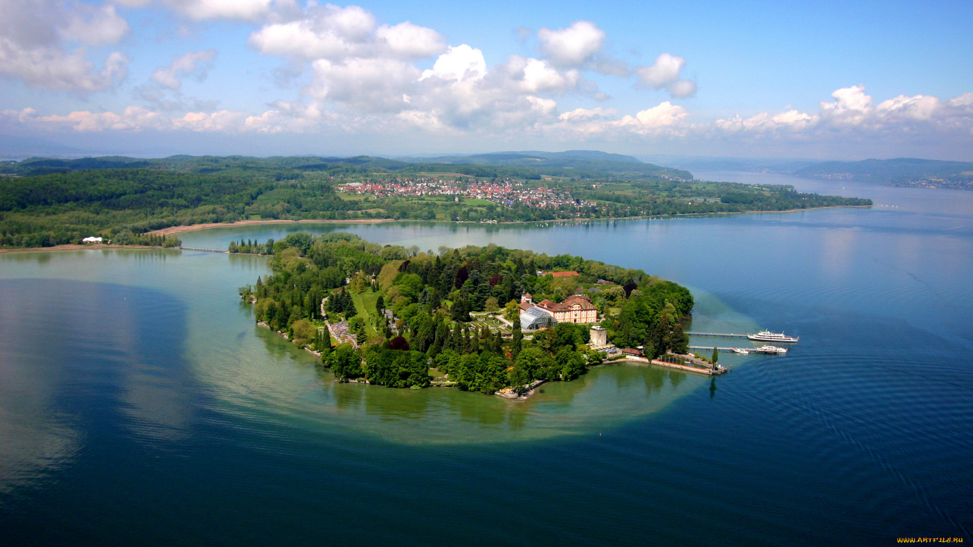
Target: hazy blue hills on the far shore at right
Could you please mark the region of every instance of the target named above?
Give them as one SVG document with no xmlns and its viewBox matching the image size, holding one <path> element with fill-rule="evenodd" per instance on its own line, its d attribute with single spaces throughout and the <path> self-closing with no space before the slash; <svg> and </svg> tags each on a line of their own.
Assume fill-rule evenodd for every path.
<svg viewBox="0 0 973 547">
<path fill-rule="evenodd" d="M 824 162 L 797 169 L 794 174 L 895 186 L 973 188 L 973 163 L 970 162 L 918 158 Z"/>
</svg>

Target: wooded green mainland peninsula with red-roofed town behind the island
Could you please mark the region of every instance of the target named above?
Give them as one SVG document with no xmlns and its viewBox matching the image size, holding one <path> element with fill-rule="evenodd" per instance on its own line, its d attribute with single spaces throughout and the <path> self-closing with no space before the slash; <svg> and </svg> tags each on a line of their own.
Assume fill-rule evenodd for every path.
<svg viewBox="0 0 973 547">
<path fill-rule="evenodd" d="M 475 164 L 240 156 L 4 162 L 0 245 L 84 237 L 153 244 L 144 235 L 164 228 L 256 220 L 532 222 L 872 203 L 699 181 L 689 171 L 576 152 L 578 159 L 483 155 Z"/>
</svg>

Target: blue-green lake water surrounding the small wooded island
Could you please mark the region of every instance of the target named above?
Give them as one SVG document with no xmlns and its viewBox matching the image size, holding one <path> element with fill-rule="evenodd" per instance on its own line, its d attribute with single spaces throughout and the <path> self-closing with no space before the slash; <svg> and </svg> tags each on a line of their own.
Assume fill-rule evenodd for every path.
<svg viewBox="0 0 973 547">
<path fill-rule="evenodd" d="M 690 286 L 693 330 L 801 336 L 784 357 L 722 354 L 734 371 L 712 383 L 612 365 L 525 403 L 332 382 L 235 298 L 265 258 L 0 255 L 0 531 L 86 545 L 970 541 L 973 193 L 711 178 L 734 177 L 882 206 L 182 235 L 570 252 Z"/>
</svg>

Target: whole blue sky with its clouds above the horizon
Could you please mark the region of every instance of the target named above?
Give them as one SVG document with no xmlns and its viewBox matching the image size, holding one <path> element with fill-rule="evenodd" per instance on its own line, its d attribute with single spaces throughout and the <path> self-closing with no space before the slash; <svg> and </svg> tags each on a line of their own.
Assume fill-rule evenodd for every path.
<svg viewBox="0 0 973 547">
<path fill-rule="evenodd" d="M 973 161 L 969 2 L 0 0 L 0 132 L 94 151 Z"/>
</svg>

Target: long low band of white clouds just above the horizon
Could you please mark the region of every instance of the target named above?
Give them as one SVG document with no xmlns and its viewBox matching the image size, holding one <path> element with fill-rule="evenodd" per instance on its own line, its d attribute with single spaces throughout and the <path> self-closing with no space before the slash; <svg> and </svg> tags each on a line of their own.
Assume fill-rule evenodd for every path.
<svg viewBox="0 0 973 547">
<path fill-rule="evenodd" d="M 534 59 L 537 60 L 537 59 Z M 510 78 L 511 64 L 487 71 L 484 78 L 416 80 L 417 69 L 401 60 L 359 59 L 325 68 L 338 87 L 322 89 L 309 101 L 277 102 L 263 114 L 220 110 L 167 116 L 159 110 L 129 107 L 123 112 L 72 112 L 40 116 L 32 109 L 4 111 L 0 118 L 36 128 L 74 131 L 137 131 L 142 129 L 213 132 L 328 132 L 347 135 L 479 135 L 488 142 L 511 134 L 552 142 L 681 142 L 699 149 L 706 143 L 732 142 L 737 149 L 767 150 L 773 143 L 806 150 L 834 147 L 844 154 L 898 143 L 913 148 L 930 143 L 944 148 L 973 144 L 973 93 L 951 99 L 931 95 L 897 96 L 878 105 L 854 86 L 835 91 L 817 113 L 787 109 L 734 116 L 713 122 L 691 119 L 683 106 L 664 101 L 631 115 L 607 108 L 575 108 L 559 113 L 556 100 L 518 88 Z M 383 63 L 397 62 L 397 65 Z M 522 66 L 523 63 L 517 64 Z M 356 76 L 340 74 L 352 70 Z M 323 74 L 323 73 L 322 73 Z M 365 78 L 362 75 L 368 74 Z M 391 78 L 382 75 L 391 74 Z M 387 86 L 386 89 L 375 90 Z M 513 86 L 513 87 L 512 87 Z M 403 93 L 402 90 L 410 92 Z M 513 90 L 513 91 L 512 91 Z M 392 97 L 393 92 L 399 93 Z M 369 93 L 377 93 L 370 95 Z M 360 96 L 359 96 L 360 95 Z M 342 109 L 328 108 L 341 101 Z M 788 144 L 790 143 L 790 144 Z"/>
</svg>

